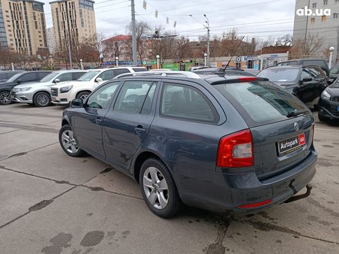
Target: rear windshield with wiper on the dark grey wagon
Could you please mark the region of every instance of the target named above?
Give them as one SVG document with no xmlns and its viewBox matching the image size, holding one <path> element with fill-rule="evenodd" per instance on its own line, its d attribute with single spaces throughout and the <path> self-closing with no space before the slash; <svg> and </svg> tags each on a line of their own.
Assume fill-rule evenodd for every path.
<svg viewBox="0 0 339 254">
<path fill-rule="evenodd" d="M 287 119 L 295 110 L 309 109 L 293 95 L 270 81 L 220 84 L 214 86 L 235 106 L 250 127 Z"/>
</svg>

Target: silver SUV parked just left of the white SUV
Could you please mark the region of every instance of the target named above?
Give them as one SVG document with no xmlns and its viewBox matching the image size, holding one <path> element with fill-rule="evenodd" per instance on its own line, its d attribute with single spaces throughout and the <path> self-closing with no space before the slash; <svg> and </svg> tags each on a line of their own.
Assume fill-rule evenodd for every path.
<svg viewBox="0 0 339 254">
<path fill-rule="evenodd" d="M 87 70 L 57 70 L 37 83 L 22 84 L 12 88 L 12 101 L 46 107 L 51 104 L 51 86 L 80 78 Z"/>
</svg>

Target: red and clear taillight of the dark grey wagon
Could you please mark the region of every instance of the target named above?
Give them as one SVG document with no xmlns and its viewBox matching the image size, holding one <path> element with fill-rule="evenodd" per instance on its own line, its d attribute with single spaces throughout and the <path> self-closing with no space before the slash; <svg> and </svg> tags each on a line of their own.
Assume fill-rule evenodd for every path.
<svg viewBox="0 0 339 254">
<path fill-rule="evenodd" d="M 253 138 L 250 130 L 242 130 L 220 139 L 217 166 L 226 168 L 253 166 Z"/>
</svg>

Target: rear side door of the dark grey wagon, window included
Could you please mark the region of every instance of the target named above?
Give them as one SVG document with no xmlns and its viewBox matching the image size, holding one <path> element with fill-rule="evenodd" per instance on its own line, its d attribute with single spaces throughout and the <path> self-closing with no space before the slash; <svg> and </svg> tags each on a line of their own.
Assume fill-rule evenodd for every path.
<svg viewBox="0 0 339 254">
<path fill-rule="evenodd" d="M 125 81 L 116 102 L 104 117 L 102 139 L 106 160 L 127 170 L 154 119 L 158 82 Z"/>
</svg>

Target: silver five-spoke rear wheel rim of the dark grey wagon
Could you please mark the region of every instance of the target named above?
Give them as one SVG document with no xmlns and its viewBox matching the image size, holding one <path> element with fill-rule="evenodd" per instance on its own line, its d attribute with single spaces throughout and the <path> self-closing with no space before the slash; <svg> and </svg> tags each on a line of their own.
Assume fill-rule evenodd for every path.
<svg viewBox="0 0 339 254">
<path fill-rule="evenodd" d="M 155 167 L 149 167 L 143 175 L 145 195 L 152 206 L 164 209 L 168 204 L 168 186 L 163 174 Z"/>
</svg>

